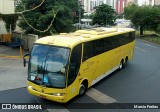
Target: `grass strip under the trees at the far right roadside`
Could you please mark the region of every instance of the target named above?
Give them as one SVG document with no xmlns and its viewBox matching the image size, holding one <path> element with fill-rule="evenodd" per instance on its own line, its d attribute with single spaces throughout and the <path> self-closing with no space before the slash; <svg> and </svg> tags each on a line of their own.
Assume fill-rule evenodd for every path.
<svg viewBox="0 0 160 112">
<path fill-rule="evenodd" d="M 160 45 L 160 35 L 156 34 L 154 31 L 144 31 L 143 36 L 140 36 L 139 31 L 136 31 L 136 37 Z"/>
</svg>

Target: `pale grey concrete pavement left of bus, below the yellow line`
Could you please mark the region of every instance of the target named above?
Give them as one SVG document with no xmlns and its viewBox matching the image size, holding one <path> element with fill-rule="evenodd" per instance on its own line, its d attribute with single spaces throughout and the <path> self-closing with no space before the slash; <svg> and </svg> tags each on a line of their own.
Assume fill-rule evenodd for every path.
<svg viewBox="0 0 160 112">
<path fill-rule="evenodd" d="M 27 67 L 22 59 L 0 58 L 0 91 L 27 86 Z"/>
</svg>

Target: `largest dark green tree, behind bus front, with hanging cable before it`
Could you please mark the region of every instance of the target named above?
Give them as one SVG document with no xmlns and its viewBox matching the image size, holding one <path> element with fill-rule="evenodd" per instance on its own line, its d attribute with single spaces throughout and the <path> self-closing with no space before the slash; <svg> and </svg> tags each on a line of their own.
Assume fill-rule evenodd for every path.
<svg viewBox="0 0 160 112">
<path fill-rule="evenodd" d="M 73 12 L 76 12 L 77 9 L 77 0 L 46 0 L 39 8 L 24 13 L 24 18 L 26 21 L 22 20 L 19 26 L 26 33 L 38 34 L 40 36 L 50 35 L 52 33 L 61 33 L 61 32 L 70 32 L 75 28 L 72 26 L 74 15 Z M 24 4 L 23 4 L 24 3 Z M 17 10 L 25 6 L 25 9 L 32 9 L 35 6 L 38 6 L 41 3 L 40 0 L 22 0 L 22 3 L 17 6 Z M 55 11 L 58 11 L 56 16 Z M 55 16 L 55 18 L 54 18 Z M 51 21 L 53 20 L 51 24 Z M 49 30 L 45 32 L 39 32 L 35 29 L 44 30 L 51 24 Z"/>
</svg>

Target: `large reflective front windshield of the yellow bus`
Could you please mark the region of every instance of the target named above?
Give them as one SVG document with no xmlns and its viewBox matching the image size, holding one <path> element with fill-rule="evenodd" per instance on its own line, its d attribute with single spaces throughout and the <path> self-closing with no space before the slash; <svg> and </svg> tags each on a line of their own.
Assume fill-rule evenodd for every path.
<svg viewBox="0 0 160 112">
<path fill-rule="evenodd" d="M 34 45 L 28 80 L 47 87 L 64 88 L 69 52 L 68 48 Z"/>
</svg>

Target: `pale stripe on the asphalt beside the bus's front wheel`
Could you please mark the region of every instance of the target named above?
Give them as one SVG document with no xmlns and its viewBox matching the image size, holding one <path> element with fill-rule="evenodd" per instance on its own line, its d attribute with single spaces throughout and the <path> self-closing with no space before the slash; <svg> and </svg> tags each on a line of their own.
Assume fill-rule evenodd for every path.
<svg viewBox="0 0 160 112">
<path fill-rule="evenodd" d="M 93 98 L 94 100 L 98 101 L 99 103 L 114 103 L 116 102 L 115 99 L 107 96 L 106 94 L 94 89 L 90 88 L 87 92 L 86 95 L 89 97 Z"/>
</svg>

